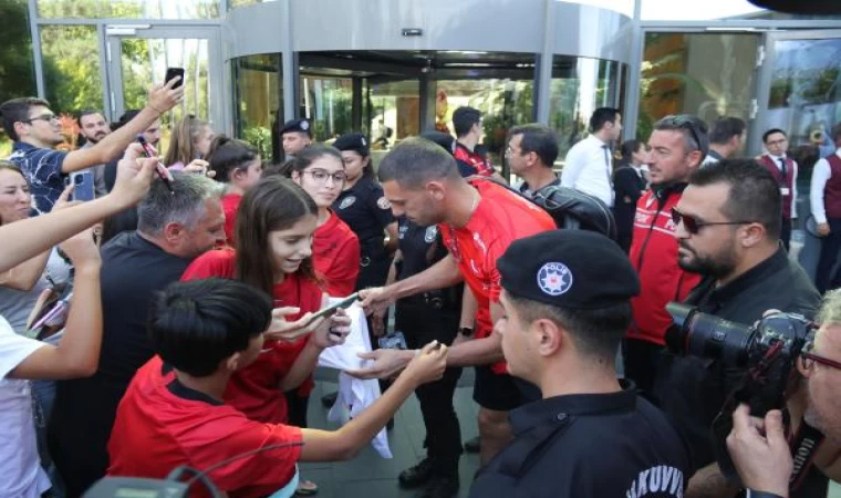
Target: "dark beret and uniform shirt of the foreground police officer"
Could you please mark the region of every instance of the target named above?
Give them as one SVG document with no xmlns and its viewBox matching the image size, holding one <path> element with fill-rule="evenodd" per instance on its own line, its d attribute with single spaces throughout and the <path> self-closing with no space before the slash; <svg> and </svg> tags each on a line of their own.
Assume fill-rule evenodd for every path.
<svg viewBox="0 0 841 498">
<path fill-rule="evenodd" d="M 498 259 L 497 269 L 509 297 L 507 305 L 513 308 L 509 313 L 517 311 L 519 300 L 568 312 L 619 305 L 630 310 L 631 298 L 640 293 L 640 279 L 622 249 L 584 230 L 552 230 L 515 240 Z M 512 297 L 517 298 L 513 302 Z M 505 325 L 503 349 L 516 346 L 518 334 L 526 333 L 516 328 L 517 321 Z M 605 330 L 605 334 L 611 332 L 613 336 L 604 340 L 617 350 L 623 324 Z M 578 344 L 577 334 L 584 331 L 568 333 Z M 581 360 L 586 357 L 585 349 L 575 350 Z M 613 355 L 606 349 L 600 353 L 601 357 Z M 528 371 L 530 360 L 540 362 L 533 369 L 560 361 L 557 355 L 538 359 L 528 351 L 507 360 L 512 374 Z M 605 373 L 612 371 L 605 366 Z M 552 383 L 540 387 L 543 392 L 557 388 Z M 511 411 L 515 438 L 479 471 L 470 496 L 683 497 L 692 469 L 688 445 L 665 414 L 638 397 L 631 382 L 606 393 L 588 393 L 592 387 L 598 386 L 584 385 Z"/>
</svg>

